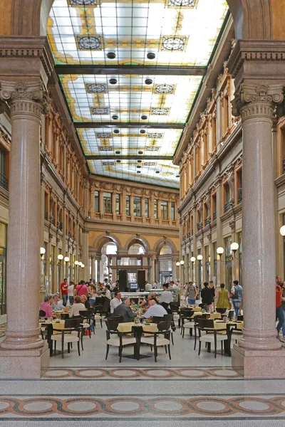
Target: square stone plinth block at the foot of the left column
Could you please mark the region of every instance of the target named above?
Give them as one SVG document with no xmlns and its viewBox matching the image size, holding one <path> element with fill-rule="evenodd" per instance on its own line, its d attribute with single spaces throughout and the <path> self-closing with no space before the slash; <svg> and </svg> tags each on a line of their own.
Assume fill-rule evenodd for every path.
<svg viewBox="0 0 285 427">
<path fill-rule="evenodd" d="M 39 379 L 48 368 L 48 344 L 33 350 L 0 349 L 1 379 Z"/>
</svg>

